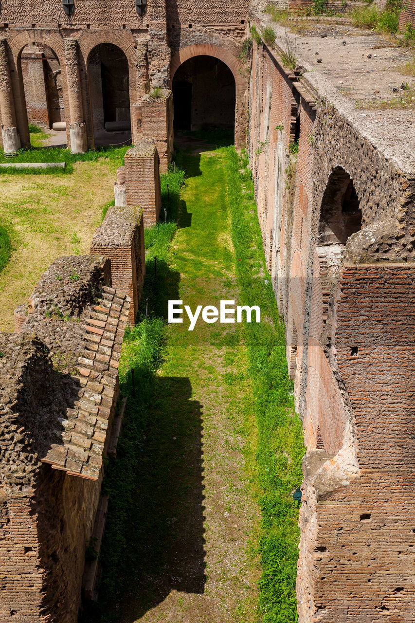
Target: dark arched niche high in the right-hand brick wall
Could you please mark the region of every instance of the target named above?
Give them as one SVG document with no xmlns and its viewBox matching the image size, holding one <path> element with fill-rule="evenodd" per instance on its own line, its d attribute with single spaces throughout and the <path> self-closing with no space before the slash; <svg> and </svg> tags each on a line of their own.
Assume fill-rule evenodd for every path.
<svg viewBox="0 0 415 623">
<path fill-rule="evenodd" d="M 345 169 L 333 169 L 323 194 L 318 224 L 318 246 L 346 244 L 361 229 L 361 209 L 353 180 Z"/>
</svg>

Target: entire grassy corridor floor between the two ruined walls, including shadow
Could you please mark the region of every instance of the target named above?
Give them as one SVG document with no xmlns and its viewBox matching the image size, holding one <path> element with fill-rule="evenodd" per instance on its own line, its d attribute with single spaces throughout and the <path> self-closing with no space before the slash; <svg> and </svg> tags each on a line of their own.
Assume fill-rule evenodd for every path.
<svg viewBox="0 0 415 623">
<path fill-rule="evenodd" d="M 125 421 L 103 484 L 110 506 L 100 598 L 85 604 L 81 620 L 175 622 L 201 593 L 209 595 L 206 620 L 219 608 L 229 623 L 290 623 L 298 545 L 291 492 L 302 480 L 302 429 L 252 180 L 241 178 L 246 161 L 233 147 L 200 157 L 183 153 L 181 160 L 183 193 L 183 171 L 169 171 L 161 180 L 161 217 L 167 206 L 168 221 L 145 231 L 140 311 L 120 360 Z M 263 320 L 199 321 L 191 333 L 186 320 L 166 324 L 173 298 L 192 309 L 237 298 L 260 305 Z M 224 511 L 244 535 L 237 549 L 234 538 L 226 540 Z M 223 562 L 229 548 L 232 573 Z M 173 602 L 172 576 L 181 586 Z"/>
</svg>

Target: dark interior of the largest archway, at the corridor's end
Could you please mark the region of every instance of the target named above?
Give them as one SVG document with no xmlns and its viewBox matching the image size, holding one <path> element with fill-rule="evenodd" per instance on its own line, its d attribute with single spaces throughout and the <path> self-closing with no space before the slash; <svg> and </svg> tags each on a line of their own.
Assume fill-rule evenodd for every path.
<svg viewBox="0 0 415 623">
<path fill-rule="evenodd" d="M 198 55 L 173 77 L 174 131 L 235 128 L 236 83 L 220 59 Z"/>
</svg>

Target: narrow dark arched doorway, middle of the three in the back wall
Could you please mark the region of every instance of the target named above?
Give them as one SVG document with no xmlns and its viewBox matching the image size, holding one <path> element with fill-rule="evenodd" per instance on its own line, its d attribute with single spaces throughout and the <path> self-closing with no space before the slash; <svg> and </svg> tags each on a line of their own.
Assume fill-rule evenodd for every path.
<svg viewBox="0 0 415 623">
<path fill-rule="evenodd" d="M 88 57 L 95 145 L 131 142 L 128 59 L 113 44 L 96 45 Z"/>
</svg>

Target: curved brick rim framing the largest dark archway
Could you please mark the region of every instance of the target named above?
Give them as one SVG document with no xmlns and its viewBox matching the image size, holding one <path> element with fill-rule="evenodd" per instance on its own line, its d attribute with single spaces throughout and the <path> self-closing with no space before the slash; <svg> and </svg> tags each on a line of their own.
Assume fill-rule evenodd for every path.
<svg viewBox="0 0 415 623">
<path fill-rule="evenodd" d="M 229 52 L 218 45 L 211 44 L 194 44 L 188 45 L 179 50 L 177 54 L 173 56 L 170 64 L 170 81 L 169 88 L 173 86 L 174 74 L 186 60 L 192 59 L 196 56 L 211 56 L 221 60 L 232 72 L 235 79 L 236 88 L 236 110 L 235 110 L 235 145 L 236 147 L 242 147 L 246 144 L 246 137 L 244 130 L 246 128 L 246 92 L 247 92 L 247 80 L 244 77 L 244 68 L 241 62 Z"/>
</svg>

